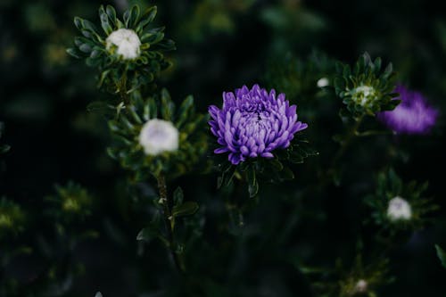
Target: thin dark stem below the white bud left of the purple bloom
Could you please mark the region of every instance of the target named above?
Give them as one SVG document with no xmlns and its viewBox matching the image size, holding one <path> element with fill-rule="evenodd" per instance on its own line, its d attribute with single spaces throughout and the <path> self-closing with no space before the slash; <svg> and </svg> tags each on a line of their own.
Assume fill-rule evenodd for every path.
<svg viewBox="0 0 446 297">
<path fill-rule="evenodd" d="M 169 195 L 167 194 L 166 178 L 162 173 L 157 177 L 158 190 L 160 191 L 160 200 L 162 204 L 162 212 L 164 215 L 164 223 L 166 225 L 167 236 L 169 241 L 170 255 L 180 273 L 185 272 L 185 267 L 182 261 L 179 259 L 178 253 L 175 252 L 175 242 L 173 238 L 173 224 L 172 224 L 172 211 L 170 210 L 170 205 L 172 204 Z"/>
</svg>

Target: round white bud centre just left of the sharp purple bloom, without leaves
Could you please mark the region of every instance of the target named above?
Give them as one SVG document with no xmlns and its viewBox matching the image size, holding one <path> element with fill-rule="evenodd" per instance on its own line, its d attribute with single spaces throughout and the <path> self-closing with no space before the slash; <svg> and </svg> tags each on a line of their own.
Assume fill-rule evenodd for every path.
<svg viewBox="0 0 446 297">
<path fill-rule="evenodd" d="M 149 155 L 177 151 L 178 142 L 178 129 L 167 120 L 149 120 L 139 134 L 139 144 Z"/>
</svg>

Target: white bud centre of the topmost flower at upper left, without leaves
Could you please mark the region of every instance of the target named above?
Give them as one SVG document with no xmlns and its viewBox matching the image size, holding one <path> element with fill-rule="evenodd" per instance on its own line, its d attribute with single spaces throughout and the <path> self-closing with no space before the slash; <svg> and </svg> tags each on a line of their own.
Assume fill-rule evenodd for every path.
<svg viewBox="0 0 446 297">
<path fill-rule="evenodd" d="M 117 54 L 120 54 L 126 60 L 130 60 L 139 56 L 141 41 L 134 30 L 117 29 L 107 37 L 107 51 L 110 52 L 113 45 L 117 47 Z"/>
</svg>

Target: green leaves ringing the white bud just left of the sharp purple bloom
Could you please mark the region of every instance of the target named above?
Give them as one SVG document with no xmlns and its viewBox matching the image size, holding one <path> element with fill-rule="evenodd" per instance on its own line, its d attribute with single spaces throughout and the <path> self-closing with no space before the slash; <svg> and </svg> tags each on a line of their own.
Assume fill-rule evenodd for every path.
<svg viewBox="0 0 446 297">
<path fill-rule="evenodd" d="M 145 154 L 138 137 L 143 124 L 153 119 L 167 120 L 178 128 L 177 151 Z M 123 168 L 134 172 L 136 180 L 146 180 L 149 174 L 157 177 L 160 173 L 169 178 L 179 177 L 191 172 L 207 152 L 206 121 L 206 116 L 195 112 L 192 95 L 187 96 L 177 110 L 166 89 L 147 98 L 135 92 L 116 119 L 109 121 L 114 142 L 108 153 L 120 161 Z"/>
</svg>

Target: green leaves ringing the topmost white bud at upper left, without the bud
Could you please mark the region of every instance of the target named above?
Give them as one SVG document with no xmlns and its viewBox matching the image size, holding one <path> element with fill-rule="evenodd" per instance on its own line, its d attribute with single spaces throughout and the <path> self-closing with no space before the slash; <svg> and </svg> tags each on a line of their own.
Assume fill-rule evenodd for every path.
<svg viewBox="0 0 446 297">
<path fill-rule="evenodd" d="M 82 37 L 75 38 L 76 47 L 68 49 L 68 53 L 98 68 L 101 73 L 98 85 L 113 93 L 129 93 L 152 83 L 161 70 L 170 65 L 164 52 L 175 49 L 174 42 L 164 37 L 164 28 L 151 26 L 156 12 L 156 6 L 141 13 L 135 5 L 124 12 L 123 21 L 120 21 L 111 5 L 101 6 L 99 17 L 105 36 L 94 23 L 77 17 L 74 24 Z M 131 30 L 139 38 L 141 45 L 136 58 L 125 59 L 117 52 L 116 45 L 108 45 L 107 38 L 119 29 Z"/>
</svg>

